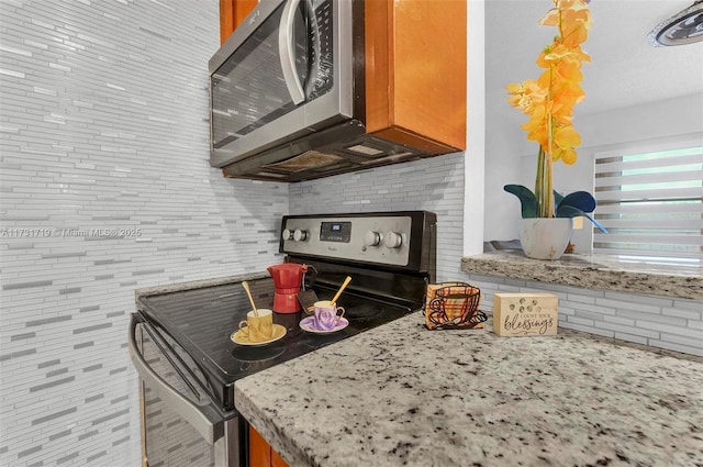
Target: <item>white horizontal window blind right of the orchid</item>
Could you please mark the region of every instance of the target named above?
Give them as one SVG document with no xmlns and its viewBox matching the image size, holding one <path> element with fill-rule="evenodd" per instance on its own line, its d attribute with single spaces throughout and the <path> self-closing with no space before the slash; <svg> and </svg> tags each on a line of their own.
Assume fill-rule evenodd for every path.
<svg viewBox="0 0 703 467">
<path fill-rule="evenodd" d="M 595 154 L 593 252 L 701 265 L 703 136 L 652 146 Z"/>
</svg>

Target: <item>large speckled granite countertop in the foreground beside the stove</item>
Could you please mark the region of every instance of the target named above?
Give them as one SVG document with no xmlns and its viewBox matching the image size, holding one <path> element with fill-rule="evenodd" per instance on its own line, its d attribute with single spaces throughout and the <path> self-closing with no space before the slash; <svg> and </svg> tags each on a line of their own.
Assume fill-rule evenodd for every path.
<svg viewBox="0 0 703 467">
<path fill-rule="evenodd" d="M 291 466 L 700 466 L 703 359 L 417 313 L 236 382 Z"/>
</svg>

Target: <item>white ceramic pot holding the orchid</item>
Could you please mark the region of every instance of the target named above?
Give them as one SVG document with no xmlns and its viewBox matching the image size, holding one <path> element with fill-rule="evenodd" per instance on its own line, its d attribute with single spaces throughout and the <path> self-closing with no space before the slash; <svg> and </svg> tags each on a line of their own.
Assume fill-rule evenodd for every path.
<svg viewBox="0 0 703 467">
<path fill-rule="evenodd" d="M 520 243 L 528 258 L 559 259 L 571 240 L 571 218 L 521 219 Z"/>
</svg>

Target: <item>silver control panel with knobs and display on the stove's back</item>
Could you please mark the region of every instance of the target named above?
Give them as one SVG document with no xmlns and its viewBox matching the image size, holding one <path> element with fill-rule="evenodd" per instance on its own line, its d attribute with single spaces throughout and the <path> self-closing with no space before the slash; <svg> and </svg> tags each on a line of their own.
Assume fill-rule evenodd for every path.
<svg viewBox="0 0 703 467">
<path fill-rule="evenodd" d="M 281 252 L 330 259 L 406 266 L 411 215 L 286 216 Z"/>
</svg>

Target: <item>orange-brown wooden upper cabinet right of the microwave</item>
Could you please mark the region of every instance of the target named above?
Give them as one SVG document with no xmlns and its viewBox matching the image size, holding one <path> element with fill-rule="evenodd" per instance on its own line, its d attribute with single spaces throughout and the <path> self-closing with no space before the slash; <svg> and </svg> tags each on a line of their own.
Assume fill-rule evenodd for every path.
<svg viewBox="0 0 703 467">
<path fill-rule="evenodd" d="M 466 148 L 466 0 L 367 0 L 366 127 L 443 154 Z"/>
</svg>

